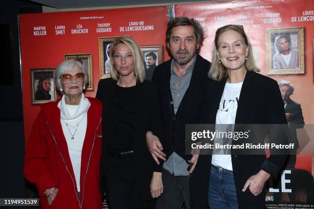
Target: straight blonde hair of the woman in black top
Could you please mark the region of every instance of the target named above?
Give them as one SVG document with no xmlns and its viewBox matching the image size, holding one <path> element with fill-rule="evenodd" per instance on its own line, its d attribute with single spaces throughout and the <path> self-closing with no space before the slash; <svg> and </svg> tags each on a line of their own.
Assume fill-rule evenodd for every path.
<svg viewBox="0 0 314 209">
<path fill-rule="evenodd" d="M 111 44 L 110 53 L 109 53 L 111 77 L 114 80 L 119 79 L 119 72 L 117 72 L 113 64 L 114 49 L 119 44 L 125 44 L 130 48 L 134 57 L 134 65 L 135 65 L 134 73 L 135 73 L 136 79 L 139 82 L 143 82 L 145 80 L 145 68 L 144 68 L 144 62 L 143 62 L 143 55 L 142 55 L 139 45 L 136 44 L 136 41 L 130 36 L 122 36 L 122 37 L 116 38 Z"/>
</svg>

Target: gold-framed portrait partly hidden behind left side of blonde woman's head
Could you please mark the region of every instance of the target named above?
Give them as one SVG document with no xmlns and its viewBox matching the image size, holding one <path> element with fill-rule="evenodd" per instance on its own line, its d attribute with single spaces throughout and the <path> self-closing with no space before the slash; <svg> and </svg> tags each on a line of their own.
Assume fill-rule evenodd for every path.
<svg viewBox="0 0 314 209">
<path fill-rule="evenodd" d="M 110 75 L 110 58 L 109 58 L 109 50 L 112 41 L 114 39 L 119 38 L 120 36 L 115 37 L 99 37 L 99 73 L 100 78 L 111 77 Z"/>
</svg>

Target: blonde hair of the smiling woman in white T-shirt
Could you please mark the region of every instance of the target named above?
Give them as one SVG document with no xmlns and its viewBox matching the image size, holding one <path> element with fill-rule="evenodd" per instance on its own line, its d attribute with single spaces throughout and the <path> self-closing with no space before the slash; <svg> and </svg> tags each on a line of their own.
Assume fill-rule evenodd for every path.
<svg viewBox="0 0 314 209">
<path fill-rule="evenodd" d="M 217 29 L 216 34 L 215 34 L 215 40 L 214 40 L 214 47 L 213 47 L 213 52 L 212 52 L 212 65 L 210 67 L 210 70 L 208 72 L 208 76 L 213 79 L 213 80 L 222 80 L 228 76 L 227 69 L 222 65 L 222 63 L 219 62 L 218 58 L 218 39 L 226 31 L 233 30 L 235 32 L 240 33 L 240 35 L 244 39 L 244 44 L 248 47 L 248 54 L 247 54 L 247 59 L 245 60 L 245 68 L 247 71 L 255 71 L 255 72 L 260 72 L 260 69 L 258 69 L 255 65 L 254 62 L 254 57 L 253 57 L 253 51 L 252 51 L 252 46 L 244 32 L 243 26 L 239 25 L 226 25 L 223 26 L 219 29 Z"/>
</svg>

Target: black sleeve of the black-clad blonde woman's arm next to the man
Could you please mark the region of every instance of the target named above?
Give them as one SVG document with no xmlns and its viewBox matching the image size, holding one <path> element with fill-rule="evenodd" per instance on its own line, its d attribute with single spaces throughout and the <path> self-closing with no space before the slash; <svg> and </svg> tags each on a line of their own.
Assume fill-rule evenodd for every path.
<svg viewBox="0 0 314 209">
<path fill-rule="evenodd" d="M 149 113 L 150 113 L 150 120 L 149 120 L 149 131 L 151 131 L 155 136 L 157 136 L 162 143 L 164 141 L 163 137 L 163 122 L 162 122 L 162 115 L 161 115 L 161 107 L 160 107 L 160 100 L 158 94 L 158 88 L 150 83 L 152 86 L 151 91 L 148 93 L 149 95 Z M 152 157 L 149 159 L 150 164 L 152 165 L 153 171 L 161 172 L 162 171 L 162 162 L 160 160 L 160 165 L 158 165 Z"/>
</svg>

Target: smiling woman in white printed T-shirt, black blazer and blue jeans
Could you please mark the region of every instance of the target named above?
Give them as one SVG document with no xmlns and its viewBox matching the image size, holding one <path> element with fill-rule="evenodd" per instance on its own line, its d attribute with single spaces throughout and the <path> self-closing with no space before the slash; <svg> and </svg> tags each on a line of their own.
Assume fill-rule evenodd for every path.
<svg viewBox="0 0 314 209">
<path fill-rule="evenodd" d="M 216 129 L 217 124 L 235 124 L 234 132 L 247 131 L 238 124 L 287 123 L 278 84 L 257 73 L 243 27 L 219 28 L 214 43 L 209 77 L 216 82 L 208 85 L 201 123 L 216 124 Z M 260 127 L 250 131 L 249 139 L 264 143 L 266 133 Z M 270 131 L 270 138 L 278 133 Z M 242 142 L 232 140 L 232 144 Z M 230 152 L 199 156 L 190 180 L 192 208 L 266 208 L 265 182 L 280 174 L 286 155 L 266 158 L 265 154 L 238 155 L 233 154 L 233 149 Z"/>
</svg>

